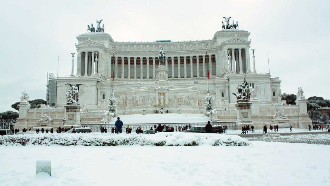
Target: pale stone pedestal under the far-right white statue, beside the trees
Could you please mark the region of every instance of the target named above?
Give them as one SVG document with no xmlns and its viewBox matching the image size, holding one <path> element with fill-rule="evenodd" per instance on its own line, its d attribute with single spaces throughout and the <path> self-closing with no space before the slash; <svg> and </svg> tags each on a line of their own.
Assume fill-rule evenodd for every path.
<svg viewBox="0 0 330 186">
<path fill-rule="evenodd" d="M 312 125 L 312 120 L 307 113 L 307 99 L 298 98 L 294 102 L 296 102 L 299 110 L 299 128 L 308 128 L 308 125 Z"/>
</svg>

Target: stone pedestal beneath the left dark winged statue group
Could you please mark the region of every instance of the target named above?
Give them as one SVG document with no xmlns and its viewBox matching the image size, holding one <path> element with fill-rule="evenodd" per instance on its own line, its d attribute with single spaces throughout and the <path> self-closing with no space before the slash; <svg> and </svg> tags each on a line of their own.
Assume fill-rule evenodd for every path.
<svg viewBox="0 0 330 186">
<path fill-rule="evenodd" d="M 82 108 L 79 105 L 73 104 L 73 105 L 64 105 L 65 107 L 65 118 L 66 121 L 63 125 L 63 127 L 78 127 L 80 126 L 80 109 Z"/>
</svg>

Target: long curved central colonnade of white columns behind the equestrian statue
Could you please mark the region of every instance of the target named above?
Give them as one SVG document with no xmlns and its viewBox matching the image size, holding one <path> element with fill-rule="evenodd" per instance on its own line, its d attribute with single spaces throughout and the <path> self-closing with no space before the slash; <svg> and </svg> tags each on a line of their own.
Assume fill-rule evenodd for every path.
<svg viewBox="0 0 330 186">
<path fill-rule="evenodd" d="M 202 59 L 200 58 L 202 56 Z M 152 64 L 151 59 L 152 58 Z M 171 59 L 170 59 L 171 58 Z M 182 59 L 183 58 L 183 59 Z M 187 59 L 188 58 L 188 59 Z M 134 60 L 134 63 L 133 63 Z M 188 62 L 187 62 L 188 60 Z M 200 60 L 202 62 L 202 73 L 200 74 Z M 115 64 L 115 78 L 156 78 L 155 69 L 158 67 L 156 64 L 157 57 L 111 57 L 110 67 Z M 183 62 L 183 64 L 182 64 Z M 168 56 L 165 62 L 165 66 L 169 68 L 169 78 L 186 78 L 188 77 L 205 77 L 207 75 L 207 62 L 210 63 L 210 75 L 213 73 L 212 64 L 215 63 L 215 58 L 212 55 L 198 55 L 198 56 Z M 132 63 L 132 64 L 131 64 Z M 157 62 L 158 63 L 158 62 Z M 187 63 L 190 64 L 190 68 L 187 68 Z M 131 65 L 134 65 L 131 68 Z M 150 66 L 152 65 L 152 69 Z M 118 69 L 118 66 L 120 66 Z M 171 66 L 171 67 L 169 67 Z M 183 66 L 183 74 L 181 72 L 181 66 Z M 140 73 L 138 72 L 140 68 Z M 120 74 L 118 74 L 118 70 Z M 134 73 L 131 73 L 131 70 Z M 149 73 L 152 70 L 152 77 Z"/>
</svg>

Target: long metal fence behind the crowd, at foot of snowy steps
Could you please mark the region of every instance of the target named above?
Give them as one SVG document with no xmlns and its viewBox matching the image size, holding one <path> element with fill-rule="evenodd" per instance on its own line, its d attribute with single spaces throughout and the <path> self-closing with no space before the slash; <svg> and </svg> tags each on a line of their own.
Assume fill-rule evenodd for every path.
<svg viewBox="0 0 330 186">
<path fill-rule="evenodd" d="M 236 130 L 236 123 L 235 122 L 211 122 L 212 125 L 227 125 L 228 130 Z M 125 132 L 125 128 L 129 125 L 132 128 L 132 132 L 134 132 L 137 128 L 141 126 L 142 130 L 150 130 L 151 127 L 154 130 L 154 125 L 158 126 L 158 123 L 135 123 L 135 124 L 124 124 L 123 125 L 123 132 Z M 206 123 L 161 123 L 161 125 L 166 125 L 174 128 L 174 131 L 177 131 L 179 126 L 186 126 L 190 125 L 190 127 L 194 126 L 205 126 Z M 111 132 L 111 128 L 115 127 L 115 124 L 83 124 L 83 126 L 90 127 L 93 132 L 100 132 L 100 127 L 104 127 L 107 129 L 107 132 Z"/>
</svg>

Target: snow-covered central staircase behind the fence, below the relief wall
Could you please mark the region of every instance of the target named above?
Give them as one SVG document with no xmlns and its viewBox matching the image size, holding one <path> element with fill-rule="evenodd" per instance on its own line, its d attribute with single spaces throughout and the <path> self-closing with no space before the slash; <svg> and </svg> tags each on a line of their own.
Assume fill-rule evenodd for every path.
<svg viewBox="0 0 330 186">
<path fill-rule="evenodd" d="M 203 114 L 132 114 L 132 115 L 120 115 L 120 120 L 124 124 L 134 123 L 207 123 L 210 120 L 208 116 Z M 114 124 L 116 118 L 111 119 L 109 123 Z"/>
</svg>

